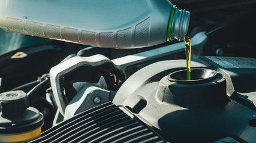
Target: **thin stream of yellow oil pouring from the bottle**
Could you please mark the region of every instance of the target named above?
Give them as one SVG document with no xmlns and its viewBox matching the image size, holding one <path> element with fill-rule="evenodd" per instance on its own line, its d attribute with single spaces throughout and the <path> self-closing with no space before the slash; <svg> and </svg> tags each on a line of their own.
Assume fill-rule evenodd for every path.
<svg viewBox="0 0 256 143">
<path fill-rule="evenodd" d="M 190 80 L 190 61 L 191 61 L 191 45 L 188 35 L 185 36 L 185 51 L 186 51 L 186 80 Z"/>
</svg>

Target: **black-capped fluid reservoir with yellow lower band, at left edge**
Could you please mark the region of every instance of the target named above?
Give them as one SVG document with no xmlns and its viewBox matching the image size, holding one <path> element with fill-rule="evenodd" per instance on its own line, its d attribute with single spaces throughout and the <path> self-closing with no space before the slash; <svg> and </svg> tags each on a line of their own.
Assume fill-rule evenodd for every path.
<svg viewBox="0 0 256 143">
<path fill-rule="evenodd" d="M 0 94 L 0 142 L 28 142 L 40 137 L 43 114 L 29 107 L 23 91 Z"/>
</svg>

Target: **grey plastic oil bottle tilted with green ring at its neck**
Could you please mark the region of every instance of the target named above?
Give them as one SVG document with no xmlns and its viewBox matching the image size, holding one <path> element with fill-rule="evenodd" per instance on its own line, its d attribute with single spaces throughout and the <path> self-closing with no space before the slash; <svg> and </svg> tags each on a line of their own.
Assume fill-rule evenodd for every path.
<svg viewBox="0 0 256 143">
<path fill-rule="evenodd" d="M 168 0 L 1 0 L 8 32 L 106 48 L 140 48 L 188 31 L 189 12 Z"/>
</svg>

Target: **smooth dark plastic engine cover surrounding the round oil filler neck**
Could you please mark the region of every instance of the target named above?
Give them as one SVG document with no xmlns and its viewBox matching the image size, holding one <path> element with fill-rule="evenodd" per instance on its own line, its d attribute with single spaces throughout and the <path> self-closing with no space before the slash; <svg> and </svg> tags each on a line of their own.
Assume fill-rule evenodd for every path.
<svg viewBox="0 0 256 143">
<path fill-rule="evenodd" d="M 144 67 L 126 80 L 113 103 L 138 114 L 169 141 L 255 142 L 256 59 L 201 57 L 191 61 L 192 69 L 218 75 L 204 82 L 170 81 L 168 74 L 185 64 L 172 60 Z"/>
</svg>

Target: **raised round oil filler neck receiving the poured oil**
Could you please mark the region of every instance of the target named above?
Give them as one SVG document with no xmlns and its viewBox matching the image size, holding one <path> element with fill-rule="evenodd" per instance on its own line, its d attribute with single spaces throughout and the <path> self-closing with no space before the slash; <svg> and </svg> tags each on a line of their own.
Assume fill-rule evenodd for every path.
<svg viewBox="0 0 256 143">
<path fill-rule="evenodd" d="M 186 108 L 218 105 L 226 98 L 225 79 L 211 69 L 191 69 L 191 80 L 186 70 L 174 71 L 160 80 L 156 92 L 159 101 Z"/>
</svg>

